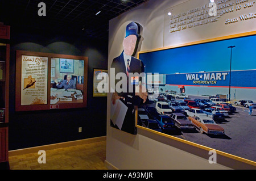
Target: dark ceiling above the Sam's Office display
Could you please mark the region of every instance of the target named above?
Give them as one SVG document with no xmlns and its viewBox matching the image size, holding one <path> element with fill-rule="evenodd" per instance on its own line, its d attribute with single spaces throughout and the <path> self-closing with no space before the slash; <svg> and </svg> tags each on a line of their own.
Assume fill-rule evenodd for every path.
<svg viewBox="0 0 256 181">
<path fill-rule="evenodd" d="M 148 0 L 0 0 L 0 21 L 14 27 L 79 32 L 108 38 L 109 20 Z M 40 2 L 46 16 L 39 16 Z M 100 14 L 96 15 L 97 12 Z"/>
</svg>

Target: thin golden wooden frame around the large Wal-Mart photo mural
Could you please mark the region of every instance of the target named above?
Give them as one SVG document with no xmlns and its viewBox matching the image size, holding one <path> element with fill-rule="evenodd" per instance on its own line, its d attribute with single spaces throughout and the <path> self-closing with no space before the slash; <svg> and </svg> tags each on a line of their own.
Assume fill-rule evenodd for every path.
<svg viewBox="0 0 256 181">
<path fill-rule="evenodd" d="M 218 38 L 208 39 L 208 40 L 201 40 L 201 41 L 196 41 L 196 42 L 192 42 L 192 43 L 185 43 L 185 44 L 175 45 L 175 46 L 172 46 L 172 47 L 165 47 L 165 48 L 141 51 L 141 52 L 138 52 L 138 56 L 137 57 L 139 58 L 142 53 L 150 53 L 150 52 L 156 52 L 156 51 L 167 50 L 167 49 L 172 49 L 172 48 L 187 47 L 189 45 L 197 45 L 197 44 L 203 44 L 203 43 L 210 43 L 210 42 L 213 42 L 213 41 L 228 40 L 228 39 L 233 39 L 233 38 L 238 38 L 238 37 L 245 37 L 245 36 L 251 36 L 251 35 L 256 35 L 256 31 L 240 33 L 240 34 L 236 34 L 236 35 L 229 35 L 229 36 L 224 36 L 224 37 L 218 37 Z M 172 140 L 182 142 L 184 144 L 195 146 L 196 148 L 199 148 L 199 149 L 203 149 L 203 150 L 207 150 L 207 151 L 213 150 L 212 148 L 209 148 L 207 146 L 203 146 L 203 145 L 200 145 L 200 144 L 196 144 L 195 142 L 183 140 L 181 138 L 178 138 L 178 137 L 175 137 L 175 136 L 171 136 L 169 134 L 165 134 L 165 133 L 162 133 L 162 132 L 158 132 L 158 131 L 154 131 L 152 129 L 148 129 L 148 128 L 142 127 L 142 126 L 138 125 L 138 118 L 137 118 L 138 117 L 138 115 L 137 115 L 138 114 L 138 110 L 136 110 L 135 113 L 136 113 L 136 116 L 135 116 L 136 117 L 136 120 L 135 120 L 136 123 L 135 124 L 136 124 L 136 127 L 138 129 L 142 129 L 143 131 L 148 131 L 148 132 L 151 132 L 151 133 L 154 133 L 154 134 L 158 134 L 159 136 L 164 136 L 164 137 L 170 138 Z M 246 163 L 246 164 L 251 165 L 251 166 L 256 166 L 256 162 L 251 161 L 249 159 L 241 158 L 241 157 L 238 157 L 236 155 L 225 153 L 224 151 L 220 151 L 220 150 L 215 150 L 214 149 L 214 151 L 216 151 L 216 153 L 218 155 L 221 155 L 224 158 L 226 157 L 226 158 L 234 159 L 234 160 L 238 161 L 238 163 L 241 162 L 241 165 Z"/>
</svg>

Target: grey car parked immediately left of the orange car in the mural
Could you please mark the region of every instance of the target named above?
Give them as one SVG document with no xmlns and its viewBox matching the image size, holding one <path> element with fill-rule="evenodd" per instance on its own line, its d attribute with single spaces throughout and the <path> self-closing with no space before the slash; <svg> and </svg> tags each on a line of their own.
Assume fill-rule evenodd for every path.
<svg viewBox="0 0 256 181">
<path fill-rule="evenodd" d="M 180 129 L 194 129 L 193 124 L 191 121 L 187 119 L 185 115 L 182 113 L 172 113 L 171 119 L 175 121 L 175 125 L 177 128 Z"/>
</svg>

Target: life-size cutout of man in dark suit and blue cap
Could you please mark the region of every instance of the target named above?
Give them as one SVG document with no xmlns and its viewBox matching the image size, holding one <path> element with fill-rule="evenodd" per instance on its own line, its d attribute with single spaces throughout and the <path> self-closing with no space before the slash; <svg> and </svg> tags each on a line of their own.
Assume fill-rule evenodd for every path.
<svg viewBox="0 0 256 181">
<path fill-rule="evenodd" d="M 125 73 L 127 75 L 127 92 L 114 92 L 112 95 L 112 103 L 115 104 L 115 101 L 119 99 L 128 107 L 122 128 L 118 128 L 112 121 L 111 125 L 112 127 L 131 134 L 137 134 L 134 106 L 138 106 L 141 101 L 143 101 L 143 103 L 146 102 L 147 99 L 146 87 L 139 85 L 139 78 L 129 77 L 129 73 L 141 74 L 144 72 L 143 62 L 133 57 L 133 54 L 137 51 L 135 48 L 138 45 L 140 37 L 138 24 L 135 22 L 129 23 L 126 27 L 125 39 L 123 39 L 123 52 L 120 56 L 114 58 L 111 65 L 111 68 L 115 69 L 115 75 L 117 73 Z M 115 85 L 117 85 L 118 81 L 119 80 L 115 80 Z M 131 86 L 131 82 L 133 84 L 133 91 L 129 92 L 129 84 Z M 135 86 L 137 86 L 137 88 L 139 87 L 139 92 L 135 92 Z"/>
</svg>

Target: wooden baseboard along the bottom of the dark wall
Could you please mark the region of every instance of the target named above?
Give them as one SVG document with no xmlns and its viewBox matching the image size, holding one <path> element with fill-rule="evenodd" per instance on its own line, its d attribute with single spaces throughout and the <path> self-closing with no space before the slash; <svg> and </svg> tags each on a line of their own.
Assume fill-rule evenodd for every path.
<svg viewBox="0 0 256 181">
<path fill-rule="evenodd" d="M 21 155 L 21 154 L 28 154 L 28 153 L 38 153 L 39 150 L 45 150 L 46 151 L 46 150 L 52 150 L 52 149 L 57 149 L 57 148 L 65 148 L 65 147 L 68 147 L 68 146 L 90 144 L 90 143 L 93 143 L 93 142 L 100 142 L 100 141 L 106 141 L 106 136 L 88 138 L 88 139 L 84 139 L 84 140 L 61 142 L 61 143 L 51 144 L 51 145 L 35 146 L 35 147 L 32 147 L 32 148 L 11 150 L 11 151 L 9 151 L 9 157 L 13 157 L 13 156 L 16 156 L 16 155 Z"/>
</svg>

